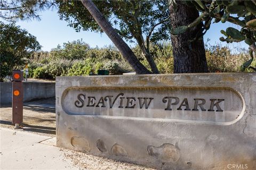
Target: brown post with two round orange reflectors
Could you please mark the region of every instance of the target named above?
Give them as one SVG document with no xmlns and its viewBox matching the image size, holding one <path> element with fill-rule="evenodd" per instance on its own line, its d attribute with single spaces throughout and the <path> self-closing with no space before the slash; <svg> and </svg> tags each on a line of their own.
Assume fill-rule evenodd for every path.
<svg viewBox="0 0 256 170">
<path fill-rule="evenodd" d="M 14 70 L 12 79 L 12 124 L 20 128 L 23 122 L 23 72 Z"/>
</svg>

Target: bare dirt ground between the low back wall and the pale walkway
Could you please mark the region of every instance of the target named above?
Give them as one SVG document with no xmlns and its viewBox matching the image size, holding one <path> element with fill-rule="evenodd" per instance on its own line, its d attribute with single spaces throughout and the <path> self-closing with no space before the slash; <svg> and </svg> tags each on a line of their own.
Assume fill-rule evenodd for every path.
<svg viewBox="0 0 256 170">
<path fill-rule="evenodd" d="M 55 137 L 54 98 L 24 103 L 23 123 L 20 130 Z M 12 107 L 1 106 L 0 127 L 13 129 Z"/>
</svg>

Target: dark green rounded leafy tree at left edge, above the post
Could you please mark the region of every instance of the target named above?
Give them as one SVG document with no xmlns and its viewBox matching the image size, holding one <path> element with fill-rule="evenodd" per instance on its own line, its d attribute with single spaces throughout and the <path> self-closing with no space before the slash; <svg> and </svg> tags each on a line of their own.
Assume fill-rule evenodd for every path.
<svg viewBox="0 0 256 170">
<path fill-rule="evenodd" d="M 14 69 L 23 69 L 33 53 L 41 49 L 36 37 L 14 23 L 0 22 L 1 78 Z"/>
</svg>

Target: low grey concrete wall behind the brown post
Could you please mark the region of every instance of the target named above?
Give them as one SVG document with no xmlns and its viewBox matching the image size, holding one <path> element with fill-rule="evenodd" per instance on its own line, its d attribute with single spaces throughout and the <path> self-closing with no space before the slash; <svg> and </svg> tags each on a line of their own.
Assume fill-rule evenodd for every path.
<svg viewBox="0 0 256 170">
<path fill-rule="evenodd" d="M 1 82 L 1 104 L 12 103 L 12 83 Z M 55 96 L 54 82 L 23 82 L 23 101 Z"/>
</svg>

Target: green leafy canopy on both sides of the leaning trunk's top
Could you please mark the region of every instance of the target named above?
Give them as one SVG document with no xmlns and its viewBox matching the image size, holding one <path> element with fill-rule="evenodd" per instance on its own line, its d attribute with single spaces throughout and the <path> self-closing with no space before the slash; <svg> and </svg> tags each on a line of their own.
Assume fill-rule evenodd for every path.
<svg viewBox="0 0 256 170">
<path fill-rule="evenodd" d="M 68 22 L 76 31 L 91 30 L 102 32 L 91 14 L 79 1 L 57 1 L 61 20 Z M 162 11 L 166 1 L 93 1 L 103 16 L 118 25 L 119 35 L 127 40 L 137 33 L 148 35 L 151 28 L 159 21 L 169 17 L 168 11 Z M 151 42 L 170 39 L 168 22 L 159 25 L 151 35 Z"/>
</svg>

